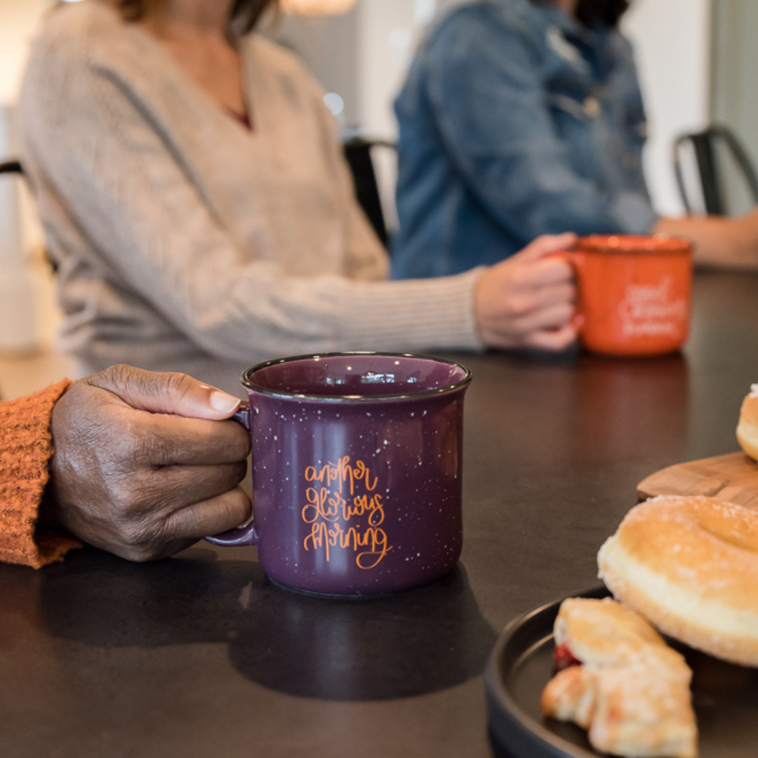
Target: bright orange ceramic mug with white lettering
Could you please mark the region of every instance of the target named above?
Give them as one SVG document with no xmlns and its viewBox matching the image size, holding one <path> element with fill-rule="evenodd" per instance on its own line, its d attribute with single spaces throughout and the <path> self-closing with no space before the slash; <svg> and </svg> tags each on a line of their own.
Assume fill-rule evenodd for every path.
<svg viewBox="0 0 758 758">
<path fill-rule="evenodd" d="M 568 255 L 581 344 L 611 356 L 678 350 L 690 330 L 692 246 L 663 235 L 580 237 Z"/>
</svg>

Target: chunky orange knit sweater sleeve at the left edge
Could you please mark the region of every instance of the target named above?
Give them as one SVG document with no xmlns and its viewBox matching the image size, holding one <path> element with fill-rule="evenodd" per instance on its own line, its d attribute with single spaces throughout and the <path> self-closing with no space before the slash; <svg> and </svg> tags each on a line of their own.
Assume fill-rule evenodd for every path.
<svg viewBox="0 0 758 758">
<path fill-rule="evenodd" d="M 73 537 L 36 525 L 53 453 L 52 408 L 69 384 L 0 402 L 0 561 L 39 568 L 81 547 Z"/>
</svg>

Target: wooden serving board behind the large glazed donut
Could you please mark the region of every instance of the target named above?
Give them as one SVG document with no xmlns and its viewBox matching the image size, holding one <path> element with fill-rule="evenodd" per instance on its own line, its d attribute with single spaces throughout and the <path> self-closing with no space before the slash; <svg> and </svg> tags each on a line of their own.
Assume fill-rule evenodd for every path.
<svg viewBox="0 0 758 758">
<path fill-rule="evenodd" d="M 640 500 L 656 495 L 707 495 L 758 510 L 758 463 L 744 453 L 677 463 L 637 484 Z"/>
</svg>

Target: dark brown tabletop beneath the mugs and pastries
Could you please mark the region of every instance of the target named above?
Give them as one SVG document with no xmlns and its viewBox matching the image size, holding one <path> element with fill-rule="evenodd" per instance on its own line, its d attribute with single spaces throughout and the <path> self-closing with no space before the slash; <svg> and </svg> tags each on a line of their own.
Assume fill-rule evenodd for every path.
<svg viewBox="0 0 758 758">
<path fill-rule="evenodd" d="M 453 575 L 340 602 L 207 543 L 0 566 L 0 755 L 491 756 L 482 672 L 504 625 L 597 584 L 638 481 L 738 449 L 758 277 L 697 276 L 681 355 L 454 357 L 475 378 Z"/>
</svg>

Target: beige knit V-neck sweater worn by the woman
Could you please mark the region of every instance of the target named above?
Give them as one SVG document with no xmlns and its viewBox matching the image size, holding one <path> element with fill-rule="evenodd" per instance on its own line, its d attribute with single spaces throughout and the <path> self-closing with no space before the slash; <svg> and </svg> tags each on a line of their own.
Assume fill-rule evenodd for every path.
<svg viewBox="0 0 758 758">
<path fill-rule="evenodd" d="M 478 271 L 389 282 L 334 121 L 302 64 L 242 43 L 249 132 L 106 5 L 53 11 L 20 101 L 81 371 L 186 371 L 240 392 L 303 352 L 475 348 Z"/>
</svg>

